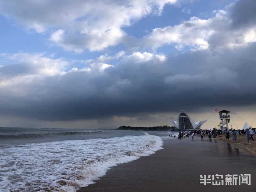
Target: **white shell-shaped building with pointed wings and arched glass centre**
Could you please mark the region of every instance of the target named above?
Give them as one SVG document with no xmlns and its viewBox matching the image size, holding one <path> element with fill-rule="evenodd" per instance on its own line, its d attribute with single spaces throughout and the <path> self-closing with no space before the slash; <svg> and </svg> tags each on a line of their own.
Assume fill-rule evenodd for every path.
<svg viewBox="0 0 256 192">
<path fill-rule="evenodd" d="M 168 119 L 169 120 L 169 119 Z M 183 110 L 180 111 L 177 121 L 169 120 L 175 129 L 200 129 L 207 120 L 194 122 Z"/>
</svg>

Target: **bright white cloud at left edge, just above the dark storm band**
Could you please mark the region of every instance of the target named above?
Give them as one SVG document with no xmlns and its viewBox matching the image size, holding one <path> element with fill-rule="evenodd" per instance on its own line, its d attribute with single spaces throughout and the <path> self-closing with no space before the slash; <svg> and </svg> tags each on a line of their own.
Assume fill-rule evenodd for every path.
<svg viewBox="0 0 256 192">
<path fill-rule="evenodd" d="M 69 65 L 62 58 L 50 59 L 44 54 L 16 53 L 2 55 L 4 64 L 0 70 L 0 85 L 19 84 L 29 82 L 35 77 L 46 77 L 61 74 Z"/>
</svg>

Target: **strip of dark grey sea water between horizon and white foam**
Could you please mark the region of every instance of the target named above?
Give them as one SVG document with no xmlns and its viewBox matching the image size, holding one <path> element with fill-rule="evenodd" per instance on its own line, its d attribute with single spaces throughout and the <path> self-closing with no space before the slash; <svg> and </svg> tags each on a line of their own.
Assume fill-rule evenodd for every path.
<svg viewBox="0 0 256 192">
<path fill-rule="evenodd" d="M 98 129 L 0 128 L 0 148 L 15 144 L 111 138 L 144 133 L 144 131 Z"/>
</svg>

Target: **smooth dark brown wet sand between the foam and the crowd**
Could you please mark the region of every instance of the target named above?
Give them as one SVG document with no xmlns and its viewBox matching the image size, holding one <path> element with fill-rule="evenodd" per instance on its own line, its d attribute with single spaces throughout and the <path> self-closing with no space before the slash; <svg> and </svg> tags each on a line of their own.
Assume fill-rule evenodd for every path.
<svg viewBox="0 0 256 192">
<path fill-rule="evenodd" d="M 155 154 L 112 167 L 89 191 L 255 192 L 256 157 L 217 139 L 170 138 Z M 251 174 L 251 186 L 204 186 L 200 175 Z M 225 181 L 224 181 L 225 184 Z"/>
</svg>

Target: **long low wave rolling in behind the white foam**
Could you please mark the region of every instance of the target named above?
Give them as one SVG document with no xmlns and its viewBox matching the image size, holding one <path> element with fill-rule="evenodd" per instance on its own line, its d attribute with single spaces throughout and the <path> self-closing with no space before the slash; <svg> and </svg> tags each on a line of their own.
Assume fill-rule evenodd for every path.
<svg viewBox="0 0 256 192">
<path fill-rule="evenodd" d="M 32 134 L 12 134 L 0 135 L 0 139 L 38 139 L 58 136 L 86 135 L 90 133 L 102 133 L 103 131 L 83 131 L 83 132 L 57 132 L 57 133 L 32 133 Z"/>
</svg>

